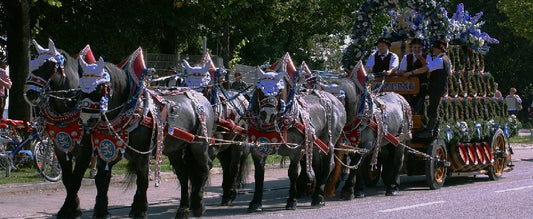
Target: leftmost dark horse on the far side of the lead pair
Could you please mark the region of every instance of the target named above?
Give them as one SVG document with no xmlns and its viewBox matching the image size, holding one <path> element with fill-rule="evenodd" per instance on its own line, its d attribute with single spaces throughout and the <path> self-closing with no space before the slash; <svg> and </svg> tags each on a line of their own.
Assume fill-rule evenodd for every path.
<svg viewBox="0 0 533 219">
<path fill-rule="evenodd" d="M 46 132 L 54 141 L 55 154 L 62 169 L 62 182 L 67 195 L 57 217 L 80 217 L 82 212 L 78 191 L 92 152 L 89 140 L 82 139 L 79 111 L 76 108 L 79 92 L 72 90 L 78 87 L 80 78 L 78 62 L 57 49 L 52 40 L 49 40 L 47 49 L 35 40 L 33 43 L 38 57 L 30 63 L 24 97 L 30 105 L 40 108 L 40 114 L 46 122 Z M 87 46 L 80 54 L 89 51 Z"/>
</svg>

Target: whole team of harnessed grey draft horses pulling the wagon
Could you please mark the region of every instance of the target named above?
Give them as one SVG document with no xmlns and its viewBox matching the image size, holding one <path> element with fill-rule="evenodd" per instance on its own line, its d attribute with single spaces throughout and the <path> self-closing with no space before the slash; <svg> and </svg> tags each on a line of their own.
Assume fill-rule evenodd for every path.
<svg viewBox="0 0 533 219">
<path fill-rule="evenodd" d="M 209 56 L 199 67 L 184 61 L 188 87 L 147 87 L 150 70 L 141 48 L 114 65 L 96 60 L 89 46 L 72 57 L 52 40 L 48 48 L 34 45 L 38 56 L 30 63 L 24 96 L 40 108 L 63 169 L 67 196 L 58 218 L 81 216 L 77 193 L 92 156 L 98 157 L 94 218 L 110 218 L 107 191 L 113 165 L 121 158 L 128 160 L 129 174 L 136 175 L 129 216 L 146 218 L 149 169 L 155 163 L 157 184 L 162 154 L 181 185 L 176 218 L 205 212 L 203 193 L 215 157 L 223 168 L 221 205 L 227 206 L 252 156 L 255 192 L 249 212 L 262 211 L 265 160 L 274 152 L 290 158 L 286 209 L 296 209 L 296 197 L 305 189 L 313 191 L 313 207 L 325 205 L 326 184 L 337 183 L 332 171 L 341 145 L 357 148 L 348 153 L 352 168 L 341 198 L 364 197 L 360 164 L 368 156 L 371 164 L 378 159 L 383 164 L 386 194 L 398 192 L 399 143 L 410 139 L 412 126 L 409 104 L 395 93 L 369 91 L 360 64 L 337 81 L 341 97 L 302 88 L 302 72 L 284 59 L 281 68 L 258 68 L 257 86 L 247 100 L 219 86 L 223 72 Z"/>
</svg>

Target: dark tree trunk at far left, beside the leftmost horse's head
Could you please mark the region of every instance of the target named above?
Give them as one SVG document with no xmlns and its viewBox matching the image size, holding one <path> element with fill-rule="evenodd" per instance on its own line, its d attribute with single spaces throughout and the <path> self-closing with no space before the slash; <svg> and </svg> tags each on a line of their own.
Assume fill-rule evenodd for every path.
<svg viewBox="0 0 533 219">
<path fill-rule="evenodd" d="M 30 106 L 24 100 L 24 84 L 30 63 L 30 0 L 9 0 L 7 13 L 7 51 L 11 90 L 9 112 L 11 119 L 30 119 Z"/>
</svg>

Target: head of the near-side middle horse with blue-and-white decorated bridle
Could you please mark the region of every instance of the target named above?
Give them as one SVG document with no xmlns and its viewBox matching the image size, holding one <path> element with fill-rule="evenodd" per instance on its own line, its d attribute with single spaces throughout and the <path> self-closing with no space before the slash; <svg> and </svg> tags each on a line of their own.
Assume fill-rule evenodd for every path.
<svg viewBox="0 0 533 219">
<path fill-rule="evenodd" d="M 285 112 L 287 103 L 287 86 L 285 85 L 284 72 L 263 72 L 260 73 L 256 98 L 258 101 L 258 123 L 261 127 L 272 126 L 276 122 L 278 115 Z"/>
</svg>

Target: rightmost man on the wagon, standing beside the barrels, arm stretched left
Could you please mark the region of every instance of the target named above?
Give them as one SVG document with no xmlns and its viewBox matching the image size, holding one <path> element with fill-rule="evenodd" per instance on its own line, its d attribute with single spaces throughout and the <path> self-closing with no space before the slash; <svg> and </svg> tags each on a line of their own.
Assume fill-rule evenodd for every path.
<svg viewBox="0 0 533 219">
<path fill-rule="evenodd" d="M 446 93 L 448 87 L 448 76 L 452 74 L 452 64 L 446 55 L 448 43 L 444 40 L 433 42 L 433 60 L 424 67 L 406 72 L 405 75 L 418 75 L 429 71 L 429 106 L 427 117 L 429 121 L 424 131 L 416 137 L 433 138 L 437 136 L 439 126 L 439 104 L 440 98 Z"/>
</svg>

